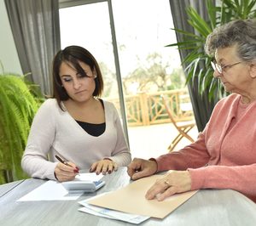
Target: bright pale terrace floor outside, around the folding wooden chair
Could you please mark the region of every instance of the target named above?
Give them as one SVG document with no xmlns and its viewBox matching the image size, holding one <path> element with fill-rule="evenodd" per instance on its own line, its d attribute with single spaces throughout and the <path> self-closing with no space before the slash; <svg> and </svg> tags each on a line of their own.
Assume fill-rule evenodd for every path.
<svg viewBox="0 0 256 226">
<path fill-rule="evenodd" d="M 167 147 L 172 139 L 177 136 L 177 130 L 172 123 L 159 124 L 146 127 L 129 127 L 130 148 L 132 158 L 139 157 L 148 159 L 157 157 L 168 152 Z M 189 135 L 196 139 L 198 135 L 197 127 L 189 131 Z M 190 144 L 187 138 L 177 144 L 175 150 Z"/>
</svg>

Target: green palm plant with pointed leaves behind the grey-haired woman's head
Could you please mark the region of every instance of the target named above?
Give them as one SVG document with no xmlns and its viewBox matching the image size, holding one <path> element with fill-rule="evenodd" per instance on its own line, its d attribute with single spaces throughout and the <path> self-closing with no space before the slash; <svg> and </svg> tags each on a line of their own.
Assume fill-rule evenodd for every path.
<svg viewBox="0 0 256 226">
<path fill-rule="evenodd" d="M 168 47 L 177 46 L 179 49 L 189 50 L 189 54 L 182 62 L 187 74 L 186 82 L 197 84 L 200 94 L 207 90 L 209 100 L 213 99 L 216 94 L 218 98 L 221 98 L 227 93 L 219 80 L 212 76 L 212 57 L 205 54 L 203 48 L 206 38 L 218 25 L 236 19 L 255 18 L 255 3 L 256 0 L 223 0 L 220 6 L 216 6 L 212 0 L 207 0 L 208 21 L 205 21 L 195 8 L 186 9 L 189 25 L 194 28 L 195 33 L 173 29 L 183 35 L 183 42 L 172 43 Z"/>
</svg>

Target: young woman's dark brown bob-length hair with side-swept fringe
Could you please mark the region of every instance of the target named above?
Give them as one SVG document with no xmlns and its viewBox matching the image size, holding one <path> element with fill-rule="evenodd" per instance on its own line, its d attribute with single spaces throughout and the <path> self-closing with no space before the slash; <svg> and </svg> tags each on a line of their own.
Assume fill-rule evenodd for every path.
<svg viewBox="0 0 256 226">
<path fill-rule="evenodd" d="M 89 65 L 91 71 L 95 70 L 96 88 L 92 95 L 95 97 L 100 97 L 102 95 L 102 72 L 94 56 L 90 54 L 90 52 L 85 48 L 79 46 L 69 46 L 55 54 L 55 58 L 53 60 L 53 97 L 57 100 L 57 103 L 60 106 L 61 110 L 63 110 L 63 108 L 61 107 L 61 100 L 69 99 L 69 96 L 67 95 L 65 88 L 63 88 L 61 84 L 60 68 L 63 62 L 67 63 L 67 65 L 72 65 L 73 68 L 75 68 L 82 76 L 87 75 L 84 73 L 83 68 L 79 65 L 79 62 L 83 62 L 84 64 Z"/>
</svg>

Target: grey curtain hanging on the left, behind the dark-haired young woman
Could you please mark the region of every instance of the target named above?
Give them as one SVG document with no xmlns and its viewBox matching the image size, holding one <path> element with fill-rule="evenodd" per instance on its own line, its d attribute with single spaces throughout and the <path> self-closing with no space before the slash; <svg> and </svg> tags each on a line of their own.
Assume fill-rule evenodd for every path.
<svg viewBox="0 0 256 226">
<path fill-rule="evenodd" d="M 51 62 L 61 48 L 58 0 L 5 0 L 23 74 L 52 95 Z"/>
</svg>

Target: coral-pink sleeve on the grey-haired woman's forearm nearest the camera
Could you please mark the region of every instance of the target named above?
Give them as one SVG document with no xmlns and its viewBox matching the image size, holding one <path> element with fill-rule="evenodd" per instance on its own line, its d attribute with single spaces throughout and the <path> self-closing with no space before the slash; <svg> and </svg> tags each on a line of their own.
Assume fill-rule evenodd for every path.
<svg viewBox="0 0 256 226">
<path fill-rule="evenodd" d="M 191 189 L 235 189 L 255 200 L 256 164 L 189 168 L 189 173 L 192 181 Z"/>
</svg>

